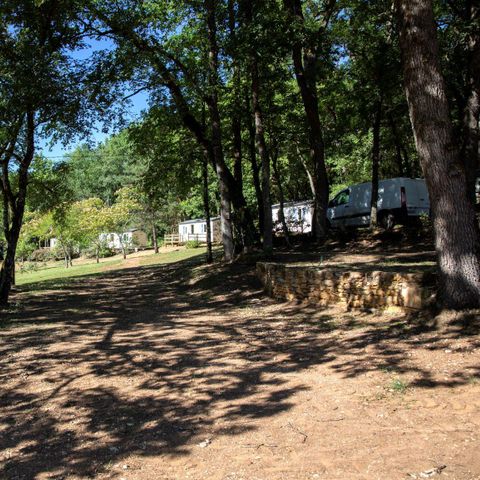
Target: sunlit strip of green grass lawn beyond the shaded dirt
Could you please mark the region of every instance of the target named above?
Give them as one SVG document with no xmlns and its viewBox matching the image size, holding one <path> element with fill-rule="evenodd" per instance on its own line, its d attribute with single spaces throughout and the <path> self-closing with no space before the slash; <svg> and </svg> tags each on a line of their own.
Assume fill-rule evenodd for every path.
<svg viewBox="0 0 480 480">
<path fill-rule="evenodd" d="M 115 267 L 119 269 L 122 267 L 129 267 L 132 261 L 136 263 L 131 266 L 147 266 L 147 265 L 161 265 L 167 263 L 174 263 L 187 258 L 192 258 L 198 255 L 205 253 L 203 248 L 187 249 L 187 250 L 177 250 L 174 252 L 159 253 L 155 255 L 146 255 L 142 257 L 128 257 L 126 261 L 123 259 L 102 259 L 100 263 L 96 263 L 95 260 L 92 260 L 89 263 L 82 263 L 80 265 L 75 265 L 75 260 L 73 262 L 73 267 L 65 268 L 63 262 L 56 262 L 55 264 L 47 265 L 43 268 L 39 268 L 36 271 L 30 272 L 18 272 L 16 274 L 16 284 L 17 285 L 29 285 L 39 282 L 51 281 L 51 280 L 63 280 L 73 277 L 81 277 L 84 275 L 95 275 L 100 274 L 106 270 L 111 271 L 115 270 Z M 138 263 L 137 263 L 138 262 Z"/>
</svg>

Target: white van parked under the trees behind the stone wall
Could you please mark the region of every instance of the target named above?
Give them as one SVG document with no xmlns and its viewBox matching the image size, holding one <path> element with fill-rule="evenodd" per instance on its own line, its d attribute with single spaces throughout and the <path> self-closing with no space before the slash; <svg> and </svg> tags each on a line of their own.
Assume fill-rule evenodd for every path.
<svg viewBox="0 0 480 480">
<path fill-rule="evenodd" d="M 333 228 L 370 225 L 372 183 L 360 183 L 342 190 L 328 204 L 327 218 Z M 378 222 L 384 228 L 428 215 L 430 200 L 425 180 L 391 178 L 378 185 Z"/>
</svg>

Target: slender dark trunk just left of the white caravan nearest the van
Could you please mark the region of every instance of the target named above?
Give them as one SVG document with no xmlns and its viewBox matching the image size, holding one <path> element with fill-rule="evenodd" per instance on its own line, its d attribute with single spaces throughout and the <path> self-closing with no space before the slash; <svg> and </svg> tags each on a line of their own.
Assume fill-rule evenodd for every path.
<svg viewBox="0 0 480 480">
<path fill-rule="evenodd" d="M 248 25 L 253 23 L 252 4 L 247 0 L 245 3 L 245 18 Z M 252 108 L 255 119 L 255 141 L 261 164 L 262 180 L 262 210 L 263 210 L 263 251 L 271 255 L 273 251 L 273 221 L 272 201 L 270 196 L 270 157 L 265 142 L 265 127 L 263 111 L 260 105 L 260 75 L 258 68 L 258 53 L 253 45 L 250 58 L 250 75 L 252 88 Z"/>
</svg>

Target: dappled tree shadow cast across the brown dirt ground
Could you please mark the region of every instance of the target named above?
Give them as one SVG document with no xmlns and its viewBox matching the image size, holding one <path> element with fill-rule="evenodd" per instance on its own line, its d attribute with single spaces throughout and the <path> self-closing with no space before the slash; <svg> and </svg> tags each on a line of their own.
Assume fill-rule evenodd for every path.
<svg viewBox="0 0 480 480">
<path fill-rule="evenodd" d="M 265 298 L 252 266 L 199 262 L 19 294 L 0 331 L 2 478 L 93 478 L 131 454 L 187 455 L 202 438 L 290 409 L 309 387 L 292 387 L 288 374 L 315 365 L 345 378 L 408 372 L 422 388 L 471 378 L 439 381 L 406 352 L 446 348 L 446 338 L 478 333 L 478 319 L 439 334 L 424 320 L 339 318 Z"/>
</svg>

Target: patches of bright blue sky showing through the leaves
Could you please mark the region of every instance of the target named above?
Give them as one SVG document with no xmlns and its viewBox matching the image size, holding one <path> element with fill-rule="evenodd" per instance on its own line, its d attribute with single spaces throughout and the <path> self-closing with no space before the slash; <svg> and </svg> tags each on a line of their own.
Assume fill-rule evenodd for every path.
<svg viewBox="0 0 480 480">
<path fill-rule="evenodd" d="M 100 50 L 112 50 L 114 48 L 113 42 L 110 39 L 89 39 L 86 47 L 72 52 L 71 57 L 76 60 L 85 60 L 90 58 L 92 53 Z M 128 95 L 128 92 L 126 93 Z M 127 118 L 136 120 L 141 112 L 147 108 L 148 103 L 148 93 L 140 92 L 137 95 L 130 98 L 130 105 L 127 111 Z M 102 124 L 94 124 L 92 125 L 90 141 L 94 143 L 99 143 L 105 140 L 109 135 L 113 132 L 104 133 L 102 131 Z M 63 145 L 62 143 L 54 143 L 50 145 L 50 140 L 44 139 L 39 143 L 38 152 L 42 153 L 46 157 L 51 157 L 53 159 L 60 159 L 66 153 L 71 152 L 75 149 L 75 147 L 85 140 L 79 140 L 74 143 L 71 143 L 67 146 Z"/>
</svg>

